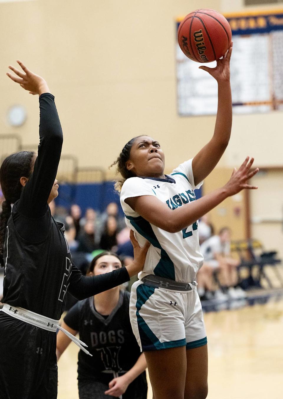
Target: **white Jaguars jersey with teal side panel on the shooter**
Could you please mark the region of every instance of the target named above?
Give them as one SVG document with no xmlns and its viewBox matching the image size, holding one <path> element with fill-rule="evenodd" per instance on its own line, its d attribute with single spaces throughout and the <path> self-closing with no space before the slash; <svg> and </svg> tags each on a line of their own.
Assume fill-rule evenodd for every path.
<svg viewBox="0 0 283 399">
<path fill-rule="evenodd" d="M 126 224 L 135 232 L 143 246 L 147 239 L 151 246 L 147 252 L 139 279 L 155 274 L 171 280 L 192 282 L 203 263 L 199 251 L 197 222 L 177 233 L 169 233 L 149 223 L 136 213 L 125 199 L 138 196 L 156 196 L 174 211 L 195 201 L 192 160 L 179 165 L 166 179 L 132 177 L 123 184 L 120 201 L 126 216 Z"/>
</svg>

